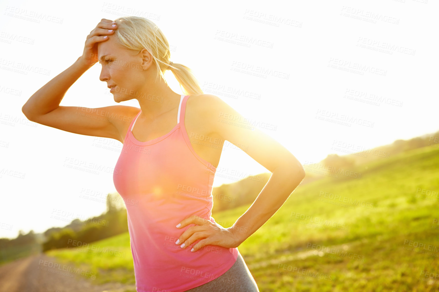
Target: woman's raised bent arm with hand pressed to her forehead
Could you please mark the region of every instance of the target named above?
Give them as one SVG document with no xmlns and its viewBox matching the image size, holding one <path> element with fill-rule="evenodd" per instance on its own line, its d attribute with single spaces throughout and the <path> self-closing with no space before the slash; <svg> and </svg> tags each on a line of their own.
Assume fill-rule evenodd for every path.
<svg viewBox="0 0 439 292">
<path fill-rule="evenodd" d="M 121 105 L 99 108 L 60 106 L 72 84 L 98 61 L 97 43 L 106 41 L 108 35 L 114 33 L 117 27 L 112 25 L 111 20 L 104 18 L 97 24 L 86 38 L 83 55 L 38 89 L 23 105 L 22 112 L 26 118 L 63 131 L 112 138 L 123 143 L 121 133 L 133 115 L 137 114 L 138 108 Z M 109 32 L 108 28 L 113 31 Z M 105 35 L 107 38 L 104 38 Z"/>
</svg>

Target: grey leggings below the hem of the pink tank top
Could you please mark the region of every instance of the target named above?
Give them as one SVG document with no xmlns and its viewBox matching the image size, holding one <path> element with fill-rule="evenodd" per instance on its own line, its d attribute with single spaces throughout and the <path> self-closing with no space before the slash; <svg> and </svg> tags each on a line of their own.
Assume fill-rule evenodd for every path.
<svg viewBox="0 0 439 292">
<path fill-rule="evenodd" d="M 224 274 L 186 292 L 259 292 L 258 285 L 248 270 L 241 253 L 233 266 Z"/>
</svg>

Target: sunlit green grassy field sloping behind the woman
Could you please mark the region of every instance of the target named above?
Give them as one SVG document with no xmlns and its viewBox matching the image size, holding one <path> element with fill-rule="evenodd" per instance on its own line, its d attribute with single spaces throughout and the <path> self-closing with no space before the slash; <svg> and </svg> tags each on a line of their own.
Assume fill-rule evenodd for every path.
<svg viewBox="0 0 439 292">
<path fill-rule="evenodd" d="M 439 291 L 439 149 L 426 146 L 301 185 L 239 246 L 259 290 Z M 230 226 L 250 205 L 213 214 Z M 128 233 L 94 242 L 118 251 L 47 254 L 134 283 Z M 84 249 L 90 251 L 90 249 Z M 125 253 L 125 256 L 120 256 Z M 427 277 L 425 277 L 427 276 Z"/>
</svg>

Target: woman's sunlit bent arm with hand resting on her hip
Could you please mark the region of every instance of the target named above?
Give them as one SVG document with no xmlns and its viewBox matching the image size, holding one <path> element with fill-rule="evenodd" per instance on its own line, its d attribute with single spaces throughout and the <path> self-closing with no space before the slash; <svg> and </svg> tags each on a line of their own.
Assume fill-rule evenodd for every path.
<svg viewBox="0 0 439 292">
<path fill-rule="evenodd" d="M 187 228 L 176 244 L 182 244 L 181 247 L 186 248 L 201 239 L 194 244 L 191 251 L 197 251 L 209 244 L 234 248 L 277 212 L 302 182 L 305 170 L 299 160 L 275 139 L 258 128 L 248 129 L 246 119 L 219 97 L 204 94 L 197 98 L 204 108 L 200 110 L 203 120 L 221 136 L 221 140 L 227 140 L 245 150 L 250 157 L 272 174 L 252 206 L 237 219 L 233 226 L 223 228 L 218 223 L 212 223 L 210 220 L 194 215 L 176 225 L 176 228 L 183 228 L 191 223 L 198 225 Z M 245 146 L 248 146 L 248 149 L 245 149 Z"/>
</svg>

